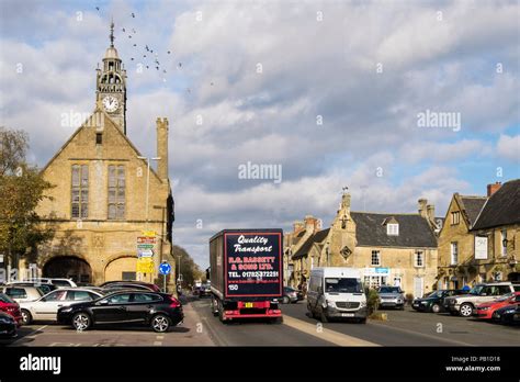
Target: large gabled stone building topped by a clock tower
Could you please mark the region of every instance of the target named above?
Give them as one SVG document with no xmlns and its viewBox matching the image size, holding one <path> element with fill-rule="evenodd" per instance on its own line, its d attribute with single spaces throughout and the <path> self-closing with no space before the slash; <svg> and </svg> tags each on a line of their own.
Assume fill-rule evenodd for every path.
<svg viewBox="0 0 520 382">
<path fill-rule="evenodd" d="M 160 159 L 155 170 L 126 135 L 126 71 L 114 47 L 113 23 L 111 29 L 97 70 L 94 110 L 43 169 L 55 186 L 53 199 L 37 207 L 43 224 L 55 232 L 36 256 L 43 277 L 154 281 L 161 260 L 173 265 L 168 120 L 156 122 Z M 136 243 L 143 236 L 155 237 L 146 250 L 152 267 L 148 260 L 149 270 L 137 272 Z"/>
</svg>

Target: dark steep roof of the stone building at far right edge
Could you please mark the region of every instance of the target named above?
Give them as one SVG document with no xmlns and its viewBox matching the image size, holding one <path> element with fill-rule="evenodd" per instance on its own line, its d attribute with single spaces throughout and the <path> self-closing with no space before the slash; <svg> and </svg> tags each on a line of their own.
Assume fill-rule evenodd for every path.
<svg viewBox="0 0 520 382">
<path fill-rule="evenodd" d="M 520 179 L 500 187 L 484 205 L 472 231 L 520 224 Z"/>
</svg>

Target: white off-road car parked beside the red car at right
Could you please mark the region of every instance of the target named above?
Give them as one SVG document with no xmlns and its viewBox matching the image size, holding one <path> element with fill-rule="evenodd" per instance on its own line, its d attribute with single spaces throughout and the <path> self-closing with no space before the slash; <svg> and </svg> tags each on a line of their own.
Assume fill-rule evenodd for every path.
<svg viewBox="0 0 520 382">
<path fill-rule="evenodd" d="M 513 292 L 515 290 L 510 282 L 476 284 L 467 294 L 445 297 L 444 308 L 450 312 L 451 315 L 460 314 L 463 317 L 470 317 L 475 306 Z"/>
</svg>

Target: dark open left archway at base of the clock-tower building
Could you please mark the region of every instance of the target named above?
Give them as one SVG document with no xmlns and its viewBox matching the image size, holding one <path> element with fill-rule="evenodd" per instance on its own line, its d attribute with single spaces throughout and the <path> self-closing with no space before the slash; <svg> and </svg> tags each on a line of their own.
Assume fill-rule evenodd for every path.
<svg viewBox="0 0 520 382">
<path fill-rule="evenodd" d="M 75 256 L 60 256 L 48 260 L 43 268 L 44 278 L 66 278 L 75 282 L 91 282 L 90 265 Z"/>
</svg>

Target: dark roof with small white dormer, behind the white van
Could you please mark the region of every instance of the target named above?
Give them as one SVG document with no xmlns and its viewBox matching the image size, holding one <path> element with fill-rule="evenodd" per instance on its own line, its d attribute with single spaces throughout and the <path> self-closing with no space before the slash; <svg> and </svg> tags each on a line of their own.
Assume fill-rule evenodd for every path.
<svg viewBox="0 0 520 382">
<path fill-rule="evenodd" d="M 427 220 L 419 214 L 384 214 L 351 212 L 359 246 L 434 248 L 437 238 Z M 399 235 L 386 234 L 383 222 L 393 217 L 399 224 Z"/>
</svg>

